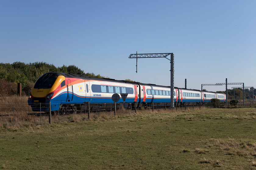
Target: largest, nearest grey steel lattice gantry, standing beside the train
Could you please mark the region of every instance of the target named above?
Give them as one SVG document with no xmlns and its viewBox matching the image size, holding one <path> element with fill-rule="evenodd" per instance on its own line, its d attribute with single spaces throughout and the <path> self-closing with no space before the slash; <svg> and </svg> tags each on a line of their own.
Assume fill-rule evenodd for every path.
<svg viewBox="0 0 256 170">
<path fill-rule="evenodd" d="M 171 56 L 171 59 L 168 59 L 167 56 Z M 174 53 L 150 53 L 150 54 L 130 54 L 129 58 L 136 58 L 136 73 L 138 73 L 138 58 L 166 58 L 167 60 L 170 60 L 171 63 L 171 108 L 174 108 Z"/>
</svg>

